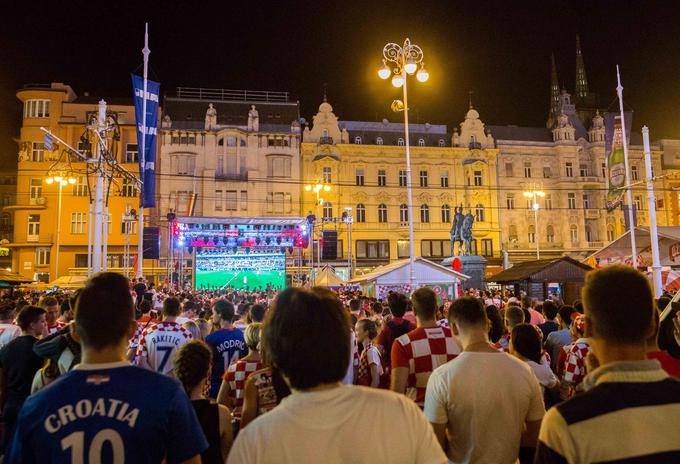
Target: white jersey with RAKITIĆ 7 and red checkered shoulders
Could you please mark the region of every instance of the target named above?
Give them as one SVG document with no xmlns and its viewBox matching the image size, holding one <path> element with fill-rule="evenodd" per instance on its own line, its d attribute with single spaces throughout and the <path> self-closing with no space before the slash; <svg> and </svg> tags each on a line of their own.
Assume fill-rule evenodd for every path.
<svg viewBox="0 0 680 464">
<path fill-rule="evenodd" d="M 156 372 L 172 375 L 175 353 L 192 338 L 191 332 L 176 322 L 149 325 L 139 338 L 137 357 L 140 362 L 145 359 Z"/>
</svg>

